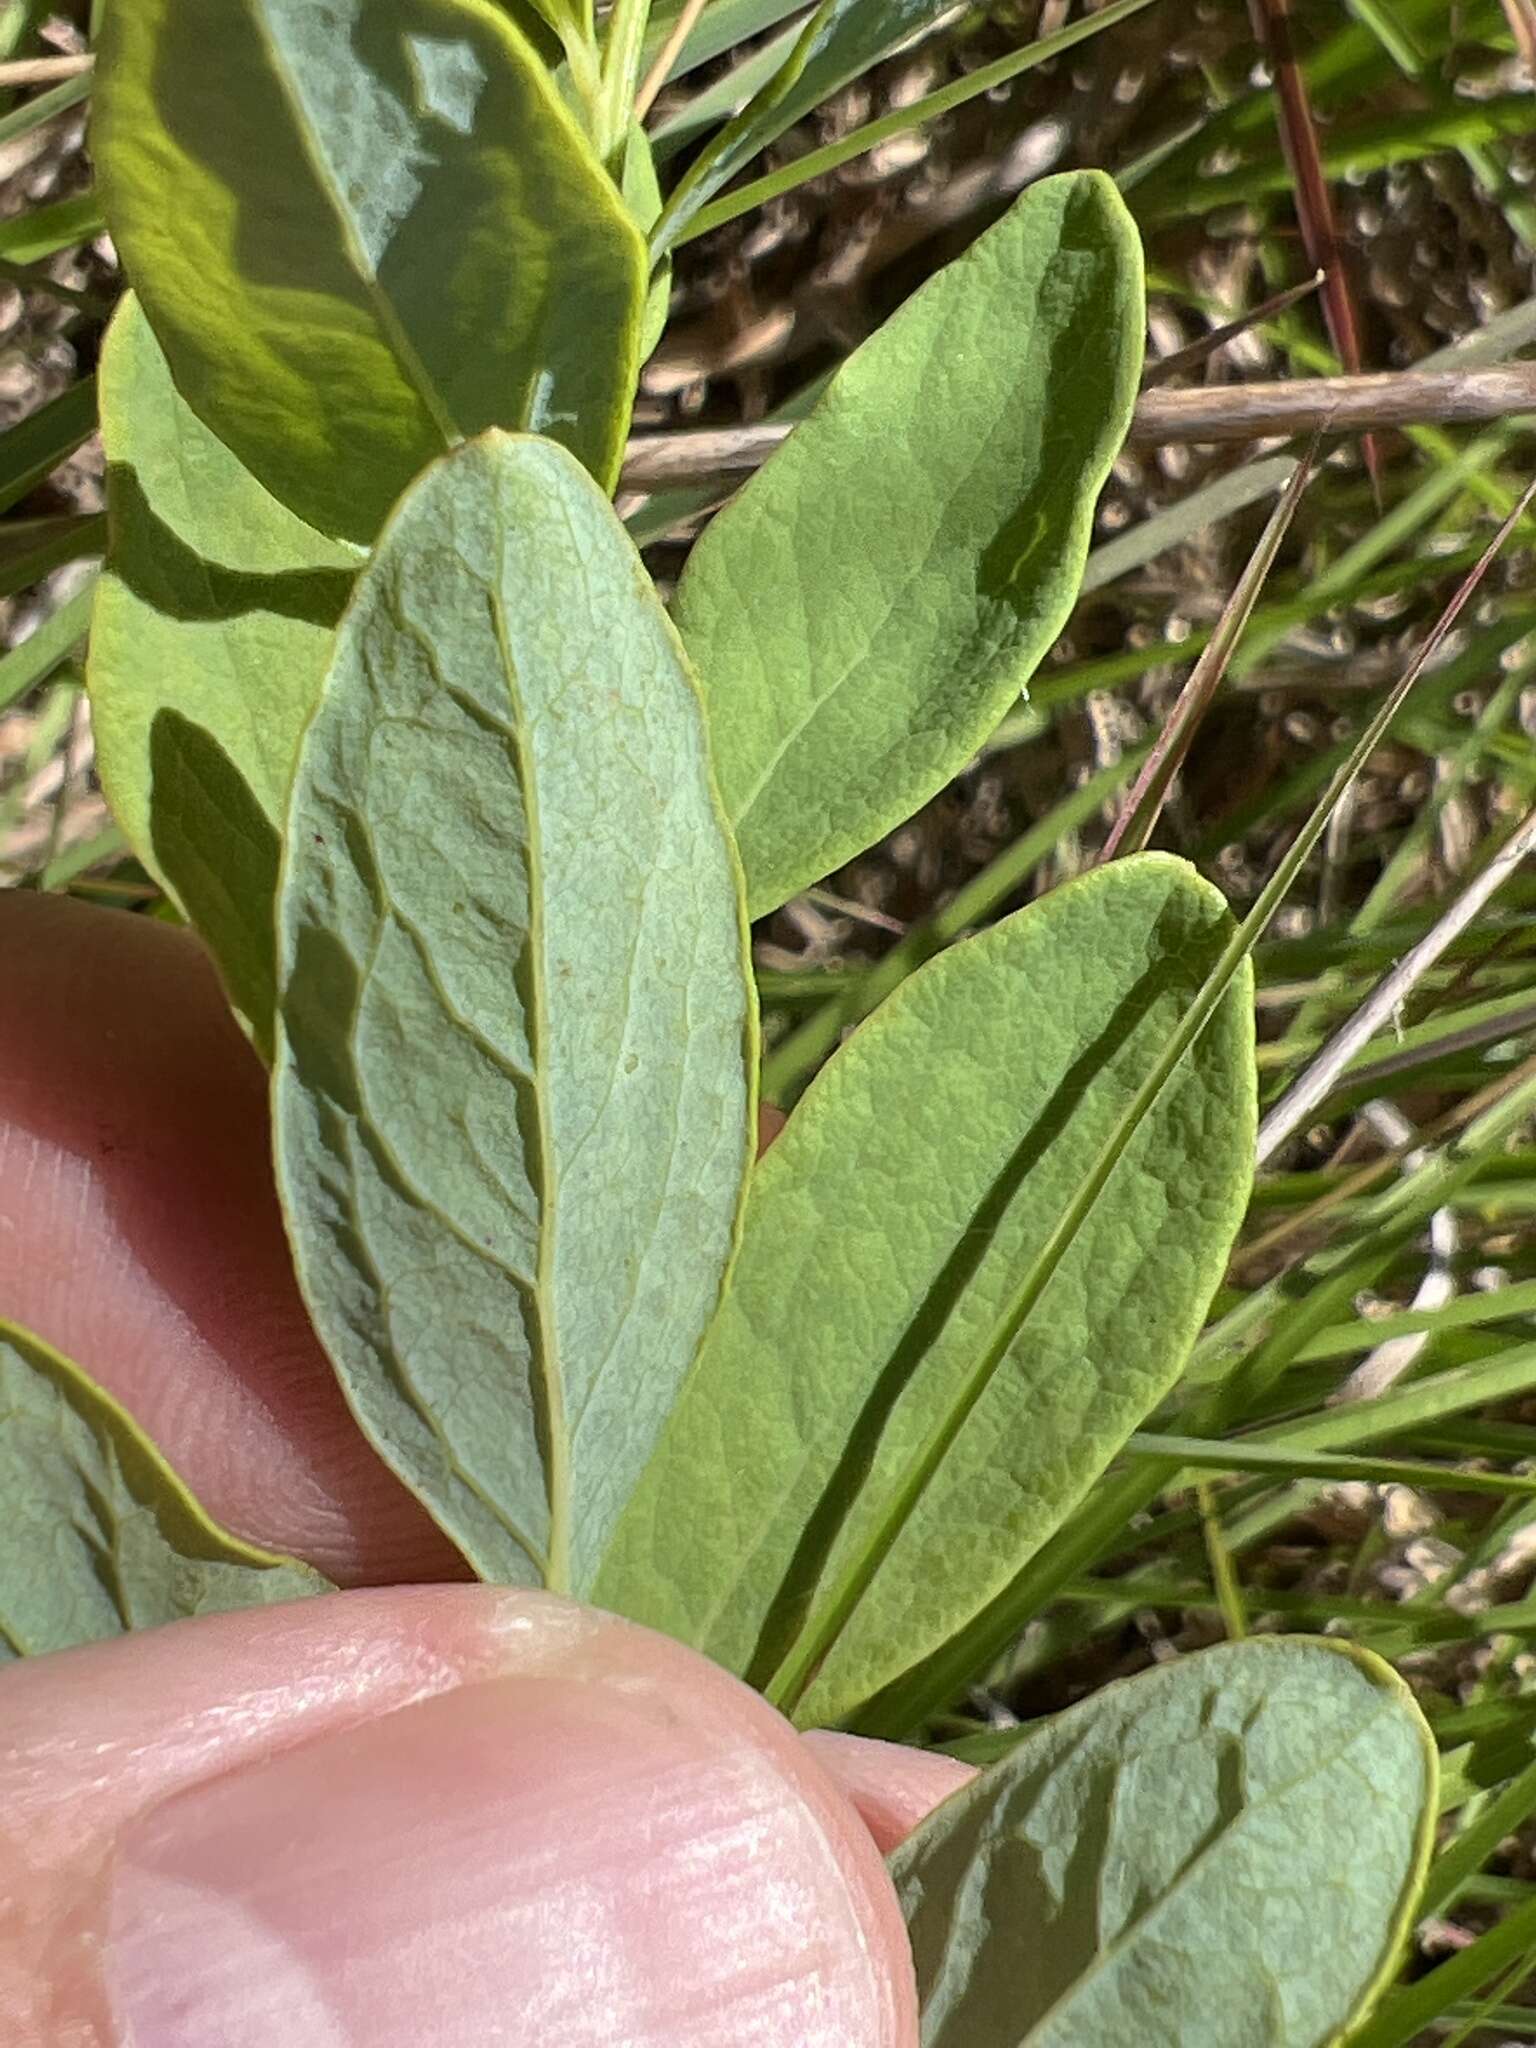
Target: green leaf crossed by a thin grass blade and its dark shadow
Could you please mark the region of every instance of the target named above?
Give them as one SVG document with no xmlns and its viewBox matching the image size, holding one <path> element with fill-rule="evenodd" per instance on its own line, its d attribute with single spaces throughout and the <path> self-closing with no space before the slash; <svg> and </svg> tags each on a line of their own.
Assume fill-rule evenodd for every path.
<svg viewBox="0 0 1536 2048">
<path fill-rule="evenodd" d="M 797 1708 L 829 1722 L 1008 1585 L 1167 1393 L 1221 1280 L 1251 1176 L 1245 971 L 977 1393 L 1229 930 L 1184 862 L 1116 862 L 920 967 L 834 1055 L 754 1174 L 600 1606 L 784 1700 L 872 1565 Z"/>
</svg>

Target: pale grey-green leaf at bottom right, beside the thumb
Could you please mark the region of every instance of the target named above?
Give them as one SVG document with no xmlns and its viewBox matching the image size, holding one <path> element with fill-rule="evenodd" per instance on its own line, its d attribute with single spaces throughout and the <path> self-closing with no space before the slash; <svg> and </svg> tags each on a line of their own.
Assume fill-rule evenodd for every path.
<svg viewBox="0 0 1536 2048">
<path fill-rule="evenodd" d="M 1393 1970 L 1434 1794 L 1407 1686 L 1341 1642 L 1108 1686 L 891 1855 L 924 2048 L 1323 2048 Z"/>
</svg>

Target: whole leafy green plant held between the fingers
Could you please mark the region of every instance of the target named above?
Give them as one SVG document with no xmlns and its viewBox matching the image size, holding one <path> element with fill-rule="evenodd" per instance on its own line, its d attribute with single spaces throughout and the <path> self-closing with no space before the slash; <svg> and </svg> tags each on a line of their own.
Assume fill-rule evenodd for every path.
<svg viewBox="0 0 1536 2048">
<path fill-rule="evenodd" d="M 657 596 L 670 252 L 934 12 L 821 0 L 682 170 L 643 0 L 117 0 L 94 86 L 100 774 L 270 1069 L 352 1413 L 483 1579 L 905 1739 L 1182 1382 L 1255 1141 L 1253 934 L 1143 852 L 911 973 L 754 1165 L 748 920 L 1018 702 L 1141 371 L 1116 188 L 1040 180 Z M 27 1331 L 0 1374 L 12 1651 L 324 1585 Z M 934 2048 L 1319 2048 L 1395 1964 L 1434 1749 L 1366 1653 L 1231 1642 L 987 1765 L 891 1858 Z"/>
</svg>

